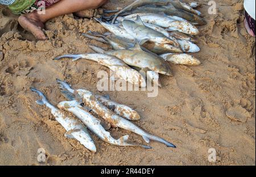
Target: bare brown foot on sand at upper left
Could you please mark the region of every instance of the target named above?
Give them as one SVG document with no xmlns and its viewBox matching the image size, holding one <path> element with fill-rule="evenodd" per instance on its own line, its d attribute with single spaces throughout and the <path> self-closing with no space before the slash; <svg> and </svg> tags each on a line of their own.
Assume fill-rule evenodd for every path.
<svg viewBox="0 0 256 177">
<path fill-rule="evenodd" d="M 36 39 L 47 39 L 46 35 L 44 35 L 44 32 L 42 30 L 44 28 L 44 23 L 40 21 L 38 15 L 35 12 L 20 15 L 18 21 L 20 26 L 31 32 L 32 35 L 36 37 Z"/>
</svg>

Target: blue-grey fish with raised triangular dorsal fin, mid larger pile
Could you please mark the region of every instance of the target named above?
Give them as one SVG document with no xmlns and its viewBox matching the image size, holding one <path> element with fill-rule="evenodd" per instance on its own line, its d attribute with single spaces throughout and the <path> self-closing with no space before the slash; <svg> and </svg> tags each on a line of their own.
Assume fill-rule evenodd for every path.
<svg viewBox="0 0 256 177">
<path fill-rule="evenodd" d="M 127 19 L 123 20 L 122 26 L 127 33 L 139 41 L 139 44 L 144 44 L 146 41 L 152 41 L 159 44 L 175 44 L 175 41 L 164 36 L 162 33 L 146 27 L 139 16 L 137 16 L 137 20 L 135 21 Z"/>
</svg>

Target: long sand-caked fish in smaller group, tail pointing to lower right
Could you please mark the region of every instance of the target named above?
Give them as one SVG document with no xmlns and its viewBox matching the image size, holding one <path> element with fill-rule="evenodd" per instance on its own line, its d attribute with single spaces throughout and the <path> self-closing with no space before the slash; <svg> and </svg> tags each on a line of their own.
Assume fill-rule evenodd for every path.
<svg viewBox="0 0 256 177">
<path fill-rule="evenodd" d="M 115 115 L 115 113 L 113 113 L 107 107 L 105 107 L 102 103 L 100 103 L 92 92 L 87 90 L 82 90 L 82 89 L 76 90 L 76 92 L 82 97 L 82 100 L 84 101 L 84 103 L 86 103 L 86 106 L 90 107 L 92 111 L 97 113 L 97 115 L 101 116 L 103 119 L 108 121 L 114 127 L 123 128 L 131 132 L 137 133 L 141 135 L 144 141 L 146 142 L 150 142 L 150 140 L 155 140 L 158 142 L 162 142 L 168 147 L 176 147 L 175 145 L 171 144 L 170 142 L 167 142 L 166 140 L 163 140 L 162 138 L 159 138 L 152 134 L 144 132 L 144 130 L 137 127 L 136 125 L 131 123 L 129 120 L 123 119 L 122 117 Z"/>
</svg>

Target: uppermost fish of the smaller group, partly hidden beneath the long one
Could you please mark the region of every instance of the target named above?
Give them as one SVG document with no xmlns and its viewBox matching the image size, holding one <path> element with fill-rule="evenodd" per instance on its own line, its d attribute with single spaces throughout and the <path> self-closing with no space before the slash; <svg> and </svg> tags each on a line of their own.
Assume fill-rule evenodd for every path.
<svg viewBox="0 0 256 177">
<path fill-rule="evenodd" d="M 61 81 L 60 79 L 56 79 L 56 80 L 57 80 L 57 83 L 60 84 L 63 90 L 67 90 L 71 94 L 75 94 L 75 90 L 73 90 L 71 86 L 68 85 L 67 82 Z M 104 104 L 104 106 L 108 107 L 109 109 L 112 109 L 114 113 L 116 113 L 118 116 L 121 116 L 128 120 L 141 119 L 141 116 L 139 116 L 139 113 L 137 111 L 134 111 L 134 109 L 124 104 L 119 104 L 117 102 L 114 102 L 109 98 L 106 98 L 105 96 L 101 96 L 101 95 L 95 95 L 95 96 L 102 104 Z M 73 99 L 75 99 L 75 96 L 73 98 L 69 98 L 69 100 L 73 100 Z"/>
</svg>

